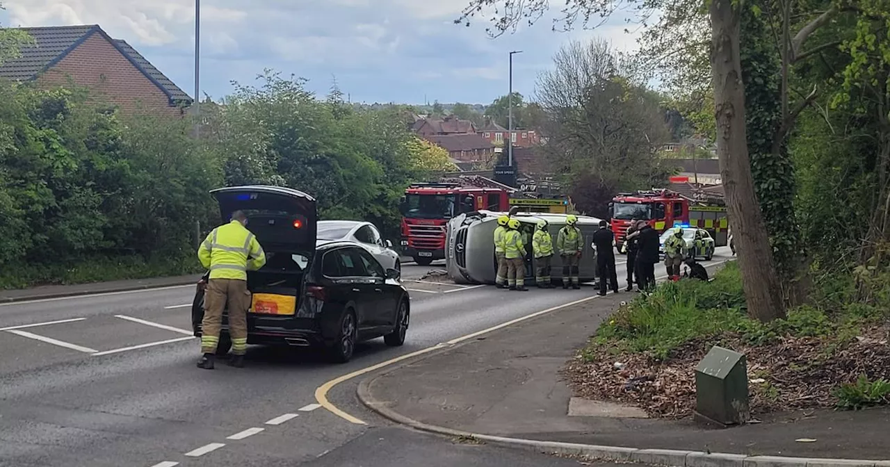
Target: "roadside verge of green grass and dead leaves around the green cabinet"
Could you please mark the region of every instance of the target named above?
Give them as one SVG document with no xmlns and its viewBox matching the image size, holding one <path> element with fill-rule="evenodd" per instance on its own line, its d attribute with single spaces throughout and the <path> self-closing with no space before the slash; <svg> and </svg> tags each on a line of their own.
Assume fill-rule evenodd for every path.
<svg viewBox="0 0 890 467">
<path fill-rule="evenodd" d="M 754 413 L 890 402 L 890 303 L 855 302 L 851 278 L 827 284 L 768 324 L 748 318 L 734 262 L 709 283 L 663 284 L 622 305 L 564 373 L 578 396 L 684 417 L 695 366 L 721 345 L 748 357 Z"/>
</svg>

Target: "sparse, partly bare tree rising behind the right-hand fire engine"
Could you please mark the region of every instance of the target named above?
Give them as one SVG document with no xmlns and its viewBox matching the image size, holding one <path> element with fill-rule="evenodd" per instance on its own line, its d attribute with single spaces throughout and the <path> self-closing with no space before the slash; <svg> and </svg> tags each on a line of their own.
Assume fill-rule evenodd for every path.
<svg viewBox="0 0 890 467">
<path fill-rule="evenodd" d="M 655 150 L 670 139 L 659 101 L 620 75 L 608 44 L 563 46 L 537 87 L 548 117 L 540 150 L 581 209 L 605 215 L 615 191 L 666 181 Z"/>
</svg>

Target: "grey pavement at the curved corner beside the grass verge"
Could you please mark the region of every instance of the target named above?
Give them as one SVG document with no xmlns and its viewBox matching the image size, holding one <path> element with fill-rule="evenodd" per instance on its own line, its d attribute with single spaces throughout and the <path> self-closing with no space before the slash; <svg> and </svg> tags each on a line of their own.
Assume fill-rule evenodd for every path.
<svg viewBox="0 0 890 467">
<path fill-rule="evenodd" d="M 758 465 L 826 465 L 812 460 L 766 462 L 765 457 L 746 461 L 745 456 L 871 460 L 851 465 L 890 459 L 888 409 L 777 414 L 763 423 L 727 430 L 704 429 L 691 420 L 568 415 L 572 394 L 560 369 L 630 296 L 609 294 L 391 366 L 360 383 L 360 399 L 422 430 L 683 451 L 672 454 L 673 460 L 663 453 L 664 462 L 653 463 L 687 465 L 688 452 L 735 454 L 727 458 L 739 466 L 748 466 L 751 459 Z M 613 452 L 628 454 L 633 449 Z"/>
</svg>

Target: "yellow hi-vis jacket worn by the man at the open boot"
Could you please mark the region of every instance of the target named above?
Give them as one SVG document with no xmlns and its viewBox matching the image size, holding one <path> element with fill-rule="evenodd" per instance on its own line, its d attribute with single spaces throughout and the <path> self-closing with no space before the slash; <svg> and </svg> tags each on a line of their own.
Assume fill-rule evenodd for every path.
<svg viewBox="0 0 890 467">
<path fill-rule="evenodd" d="M 207 234 L 198 247 L 198 260 L 212 279 L 247 280 L 247 270 L 262 268 L 266 254 L 250 230 L 231 221 Z"/>
</svg>

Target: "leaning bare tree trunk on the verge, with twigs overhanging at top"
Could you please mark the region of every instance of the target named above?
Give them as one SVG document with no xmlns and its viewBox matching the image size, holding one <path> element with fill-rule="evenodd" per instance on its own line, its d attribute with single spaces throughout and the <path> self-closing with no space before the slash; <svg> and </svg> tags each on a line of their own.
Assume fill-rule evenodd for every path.
<svg viewBox="0 0 890 467">
<path fill-rule="evenodd" d="M 506 5 L 504 3 L 506 2 Z M 651 13 L 669 0 L 639 2 L 640 10 Z M 538 20 L 549 9 L 547 0 L 516 4 L 510 0 L 470 0 L 464 14 L 456 20 L 467 22 L 473 15 L 497 6 L 490 33 L 499 36 L 514 30 L 520 21 Z M 619 8 L 611 0 L 568 0 L 562 9 L 562 21 L 568 27 L 578 19 L 587 25 L 591 18 L 605 18 Z M 694 12 L 700 12 L 696 5 Z M 720 159 L 727 206 L 740 251 L 740 270 L 748 300 L 748 313 L 767 321 L 785 315 L 781 286 L 773 264 L 773 254 L 763 216 L 754 191 L 745 133 L 744 85 L 740 65 L 740 8 L 732 0 L 710 0 L 712 49 L 710 55 L 717 123 L 717 155 Z M 504 14 L 500 14 L 504 12 Z"/>
</svg>

